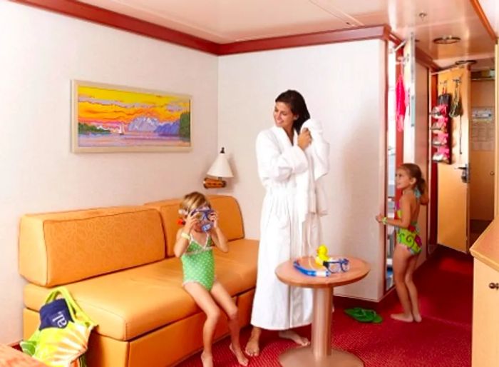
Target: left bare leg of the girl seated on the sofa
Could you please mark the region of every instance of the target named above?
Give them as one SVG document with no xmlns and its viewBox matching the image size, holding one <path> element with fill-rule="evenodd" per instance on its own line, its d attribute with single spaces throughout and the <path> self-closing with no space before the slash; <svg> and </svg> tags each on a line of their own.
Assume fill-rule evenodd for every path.
<svg viewBox="0 0 499 367">
<path fill-rule="evenodd" d="M 220 318 L 220 308 L 213 300 L 210 292 L 200 283 L 185 283 L 184 288 L 194 298 L 197 306 L 200 306 L 202 311 L 206 313 L 205 325 L 202 327 L 203 351 L 201 353 L 201 362 L 202 367 L 213 367 L 213 334 L 215 334 L 215 328 Z"/>
</svg>

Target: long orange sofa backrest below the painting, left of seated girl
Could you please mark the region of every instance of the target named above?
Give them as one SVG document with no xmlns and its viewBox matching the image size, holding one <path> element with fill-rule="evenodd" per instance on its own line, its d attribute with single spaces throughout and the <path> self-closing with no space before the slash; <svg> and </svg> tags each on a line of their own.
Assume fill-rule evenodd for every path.
<svg viewBox="0 0 499 367">
<path fill-rule="evenodd" d="M 158 211 L 123 206 L 28 214 L 19 231 L 19 273 L 57 286 L 165 258 Z"/>
</svg>

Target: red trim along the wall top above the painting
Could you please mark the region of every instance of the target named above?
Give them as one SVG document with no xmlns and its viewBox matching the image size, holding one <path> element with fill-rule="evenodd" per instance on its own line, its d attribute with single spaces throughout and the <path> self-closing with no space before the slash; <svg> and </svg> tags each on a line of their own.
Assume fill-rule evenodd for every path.
<svg viewBox="0 0 499 367">
<path fill-rule="evenodd" d="M 19 4 L 36 6 L 41 9 L 54 11 L 78 19 L 93 21 L 94 23 L 112 26 L 135 34 L 142 34 L 161 41 L 171 42 L 180 46 L 187 46 L 210 54 L 217 54 L 218 44 L 205 39 L 200 39 L 190 34 L 174 31 L 157 24 L 141 21 L 131 16 L 115 13 L 96 6 L 72 0 L 11 0 Z"/>
</svg>

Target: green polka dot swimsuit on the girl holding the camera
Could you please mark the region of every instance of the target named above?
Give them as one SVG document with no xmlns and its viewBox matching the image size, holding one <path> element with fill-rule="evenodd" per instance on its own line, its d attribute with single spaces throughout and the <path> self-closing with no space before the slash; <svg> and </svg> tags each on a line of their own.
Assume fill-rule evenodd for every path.
<svg viewBox="0 0 499 367">
<path fill-rule="evenodd" d="M 184 270 L 184 283 L 200 283 L 208 291 L 211 291 L 215 281 L 215 259 L 213 258 L 212 238 L 207 236 L 205 246 L 197 243 L 192 234 L 189 246 L 180 257 Z"/>
</svg>

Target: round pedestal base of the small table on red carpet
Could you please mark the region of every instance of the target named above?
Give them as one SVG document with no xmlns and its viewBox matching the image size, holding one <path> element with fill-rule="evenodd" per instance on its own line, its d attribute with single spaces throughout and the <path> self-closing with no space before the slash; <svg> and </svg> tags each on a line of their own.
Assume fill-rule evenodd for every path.
<svg viewBox="0 0 499 367">
<path fill-rule="evenodd" d="M 283 367 L 364 367 L 364 362 L 354 354 L 331 349 L 331 354 L 314 358 L 311 347 L 293 348 L 279 356 Z"/>
</svg>

